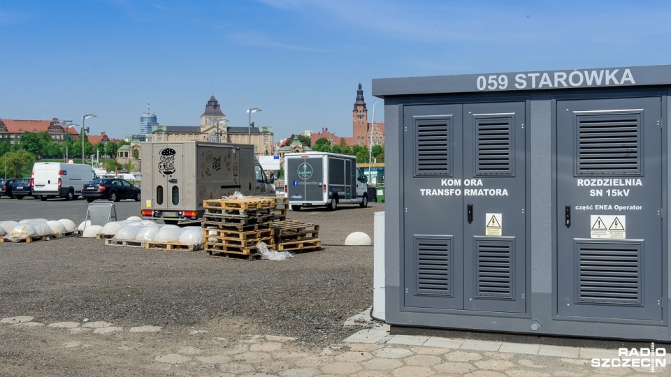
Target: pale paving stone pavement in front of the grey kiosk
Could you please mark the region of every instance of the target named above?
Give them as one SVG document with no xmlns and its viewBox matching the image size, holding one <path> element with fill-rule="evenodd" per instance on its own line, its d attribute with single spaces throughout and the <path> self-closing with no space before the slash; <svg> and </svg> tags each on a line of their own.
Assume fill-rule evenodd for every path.
<svg viewBox="0 0 671 377">
<path fill-rule="evenodd" d="M 361 313 L 345 325 L 361 325 L 367 317 L 367 312 Z M 73 339 L 61 343 L 61 348 L 89 351 L 92 346 L 76 340 L 78 335 L 110 337 L 112 333 L 142 332 L 147 348 L 151 348 L 152 334 L 164 331 L 156 326 L 124 328 L 107 322 L 44 324 L 34 322 L 31 316 L 2 318 L 0 326 L 69 332 Z M 189 334 L 208 338 L 208 330 Z M 171 376 L 671 376 L 666 367 L 657 367 L 653 373 L 648 366 L 591 365 L 595 357 L 619 359 L 617 350 L 391 335 L 389 325 L 381 323 L 322 350 L 305 350 L 294 338 L 270 335 L 228 339 L 225 348 L 216 346 L 224 340 L 212 336 L 205 343 L 175 346 L 170 353 L 157 347 L 153 353 L 146 351 L 151 358 L 147 362 Z"/>
</svg>

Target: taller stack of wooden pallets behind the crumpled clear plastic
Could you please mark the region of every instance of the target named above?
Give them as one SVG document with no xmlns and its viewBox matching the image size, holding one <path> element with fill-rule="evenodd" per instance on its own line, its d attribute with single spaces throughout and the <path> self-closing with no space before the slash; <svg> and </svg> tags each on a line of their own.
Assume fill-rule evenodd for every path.
<svg viewBox="0 0 671 377">
<path fill-rule="evenodd" d="M 261 196 L 204 200 L 205 251 L 210 256 L 246 256 L 252 259 L 259 242 L 273 249 L 275 204 L 275 198 Z"/>
</svg>

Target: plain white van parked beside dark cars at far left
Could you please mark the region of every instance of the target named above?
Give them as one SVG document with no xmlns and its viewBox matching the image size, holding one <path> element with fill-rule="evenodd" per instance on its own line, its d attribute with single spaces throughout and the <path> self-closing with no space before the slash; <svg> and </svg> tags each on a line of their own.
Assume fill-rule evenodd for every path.
<svg viewBox="0 0 671 377">
<path fill-rule="evenodd" d="M 81 195 L 82 185 L 96 179 L 90 165 L 82 163 L 35 163 L 32 172 L 35 198 L 66 198 L 73 200 Z"/>
</svg>

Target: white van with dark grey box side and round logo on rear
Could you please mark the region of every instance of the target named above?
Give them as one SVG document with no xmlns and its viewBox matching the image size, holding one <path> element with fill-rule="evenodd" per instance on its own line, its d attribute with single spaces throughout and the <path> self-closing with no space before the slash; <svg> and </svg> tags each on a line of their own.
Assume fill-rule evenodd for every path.
<svg viewBox="0 0 671 377">
<path fill-rule="evenodd" d="M 356 166 L 356 157 L 309 151 L 284 154 L 284 193 L 294 211 L 301 207 L 368 205 L 375 191 Z"/>
</svg>

